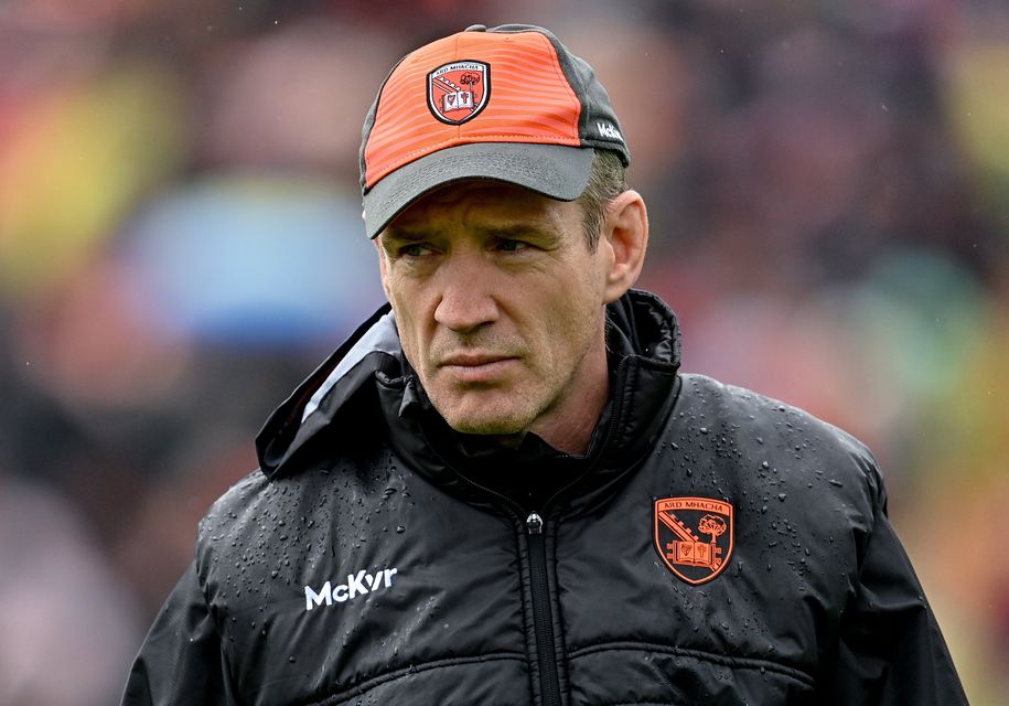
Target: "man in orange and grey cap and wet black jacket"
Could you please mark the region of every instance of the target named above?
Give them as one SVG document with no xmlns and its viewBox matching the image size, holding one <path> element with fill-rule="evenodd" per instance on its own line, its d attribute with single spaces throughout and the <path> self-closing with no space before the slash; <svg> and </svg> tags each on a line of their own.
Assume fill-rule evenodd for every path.
<svg viewBox="0 0 1009 706">
<path fill-rule="evenodd" d="M 390 306 L 273 414 L 124 704 L 963 704 L 872 457 L 678 372 L 591 68 L 470 28 L 369 113 Z"/>
</svg>

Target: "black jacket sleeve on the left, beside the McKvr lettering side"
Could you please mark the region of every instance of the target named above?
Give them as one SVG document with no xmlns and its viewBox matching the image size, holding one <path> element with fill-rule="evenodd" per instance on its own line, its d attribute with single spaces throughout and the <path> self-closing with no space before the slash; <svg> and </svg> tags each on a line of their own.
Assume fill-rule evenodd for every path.
<svg viewBox="0 0 1009 706">
<path fill-rule="evenodd" d="M 221 639 L 196 578 L 179 580 L 133 662 L 121 706 L 233 706 Z"/>
</svg>

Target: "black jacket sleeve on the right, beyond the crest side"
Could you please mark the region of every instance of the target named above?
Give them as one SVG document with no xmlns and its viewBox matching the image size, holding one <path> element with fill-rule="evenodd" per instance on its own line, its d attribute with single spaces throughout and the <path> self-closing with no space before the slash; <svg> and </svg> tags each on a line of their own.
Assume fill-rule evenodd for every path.
<svg viewBox="0 0 1009 706">
<path fill-rule="evenodd" d="M 967 704 L 911 560 L 887 517 L 878 475 L 873 526 L 818 704 Z"/>
</svg>

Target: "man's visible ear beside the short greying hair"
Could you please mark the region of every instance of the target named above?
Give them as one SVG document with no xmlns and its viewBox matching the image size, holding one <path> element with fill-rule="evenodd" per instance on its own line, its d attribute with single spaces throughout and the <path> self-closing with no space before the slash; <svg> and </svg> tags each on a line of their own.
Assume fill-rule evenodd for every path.
<svg viewBox="0 0 1009 706">
<path fill-rule="evenodd" d="M 621 193 L 607 205 L 600 235 L 612 252 L 608 263 L 604 297 L 607 303 L 620 299 L 641 275 L 648 248 L 648 213 L 636 191 Z"/>
</svg>

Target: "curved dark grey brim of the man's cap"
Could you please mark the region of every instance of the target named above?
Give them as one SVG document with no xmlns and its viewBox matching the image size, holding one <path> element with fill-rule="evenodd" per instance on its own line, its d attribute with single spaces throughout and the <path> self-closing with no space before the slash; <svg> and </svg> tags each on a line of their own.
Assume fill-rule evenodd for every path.
<svg viewBox="0 0 1009 706">
<path fill-rule="evenodd" d="M 591 147 L 475 142 L 432 152 L 387 174 L 364 194 L 369 238 L 425 194 L 468 179 L 490 179 L 575 201 L 589 181 Z"/>
</svg>

